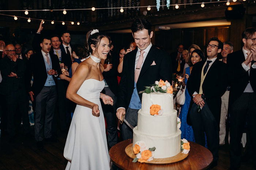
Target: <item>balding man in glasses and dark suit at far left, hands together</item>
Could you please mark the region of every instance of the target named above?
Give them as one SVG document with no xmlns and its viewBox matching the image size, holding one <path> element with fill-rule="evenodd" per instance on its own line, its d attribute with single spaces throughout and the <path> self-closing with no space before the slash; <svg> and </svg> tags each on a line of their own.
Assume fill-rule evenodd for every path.
<svg viewBox="0 0 256 170">
<path fill-rule="evenodd" d="M 0 93 L 4 95 L 7 107 L 7 132 L 10 142 L 15 137 L 15 111 L 21 114 L 24 132 L 29 134 L 30 124 L 28 115 L 28 103 L 25 90 L 25 62 L 15 55 L 15 47 L 9 44 L 4 50 L 5 57 L 0 62 L 0 70 L 3 80 L 0 85 Z M 2 121 L 2 120 L 1 120 Z M 19 122 L 20 123 L 20 122 Z"/>
</svg>

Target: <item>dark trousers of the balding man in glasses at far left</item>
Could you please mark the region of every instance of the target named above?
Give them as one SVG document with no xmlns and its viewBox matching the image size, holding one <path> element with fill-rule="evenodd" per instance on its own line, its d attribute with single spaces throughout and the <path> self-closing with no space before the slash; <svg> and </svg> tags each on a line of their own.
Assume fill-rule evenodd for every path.
<svg viewBox="0 0 256 170">
<path fill-rule="evenodd" d="M 7 104 L 7 132 L 10 137 L 15 135 L 15 112 L 17 111 L 17 106 L 19 107 L 19 112 L 22 116 L 22 123 L 24 128 L 24 133 L 29 133 L 29 112 L 28 112 L 28 102 L 27 94 L 24 88 L 20 88 L 17 91 L 10 91 L 6 97 Z M 19 122 L 20 124 L 20 122 Z"/>
</svg>

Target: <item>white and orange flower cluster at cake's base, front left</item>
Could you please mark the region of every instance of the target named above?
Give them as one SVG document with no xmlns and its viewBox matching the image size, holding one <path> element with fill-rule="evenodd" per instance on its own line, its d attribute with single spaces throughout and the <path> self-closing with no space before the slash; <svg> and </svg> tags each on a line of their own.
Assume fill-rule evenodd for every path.
<svg viewBox="0 0 256 170">
<path fill-rule="evenodd" d="M 152 161 L 155 156 L 155 147 L 148 148 L 144 141 L 138 141 L 133 147 L 133 153 L 136 154 L 136 157 L 132 162 L 147 162 Z"/>
</svg>

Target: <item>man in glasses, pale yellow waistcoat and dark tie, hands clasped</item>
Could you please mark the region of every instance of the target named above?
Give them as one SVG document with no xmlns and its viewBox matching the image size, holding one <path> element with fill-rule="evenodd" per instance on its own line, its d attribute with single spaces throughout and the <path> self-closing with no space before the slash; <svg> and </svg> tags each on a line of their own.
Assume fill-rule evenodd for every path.
<svg viewBox="0 0 256 170">
<path fill-rule="evenodd" d="M 207 61 L 194 65 L 187 82 L 188 92 L 194 98 L 187 119 L 191 120 L 196 143 L 205 146 L 213 155 L 211 167 L 217 166 L 219 151 L 219 121 L 221 116 L 221 96 L 226 91 L 226 64 L 217 59 L 223 43 L 217 37 L 208 41 Z M 200 110 L 200 107 L 202 110 Z"/>
</svg>

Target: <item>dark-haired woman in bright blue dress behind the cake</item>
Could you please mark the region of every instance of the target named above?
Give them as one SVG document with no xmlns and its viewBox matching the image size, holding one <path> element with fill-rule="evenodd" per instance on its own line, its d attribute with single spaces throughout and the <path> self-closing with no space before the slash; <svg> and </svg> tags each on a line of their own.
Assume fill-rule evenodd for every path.
<svg viewBox="0 0 256 170">
<path fill-rule="evenodd" d="M 205 60 L 203 52 L 199 49 L 194 50 L 189 57 L 190 57 L 192 66 L 187 67 L 184 71 L 185 82 L 184 81 L 182 82 L 182 88 L 185 88 L 185 85 L 187 84 L 187 81 L 188 81 L 188 78 L 190 76 L 193 65 L 197 62 Z M 187 115 L 188 115 L 188 108 L 189 108 L 189 105 L 190 105 L 190 100 L 191 100 L 191 97 L 190 97 L 190 95 L 188 93 L 188 90 L 186 88 L 186 90 L 185 90 L 185 103 L 181 107 L 180 116 L 179 116 L 179 118 L 181 120 L 181 127 L 180 127 L 181 139 L 185 138 L 188 141 L 195 142 L 195 137 L 194 137 L 192 126 L 187 124 Z"/>
</svg>

